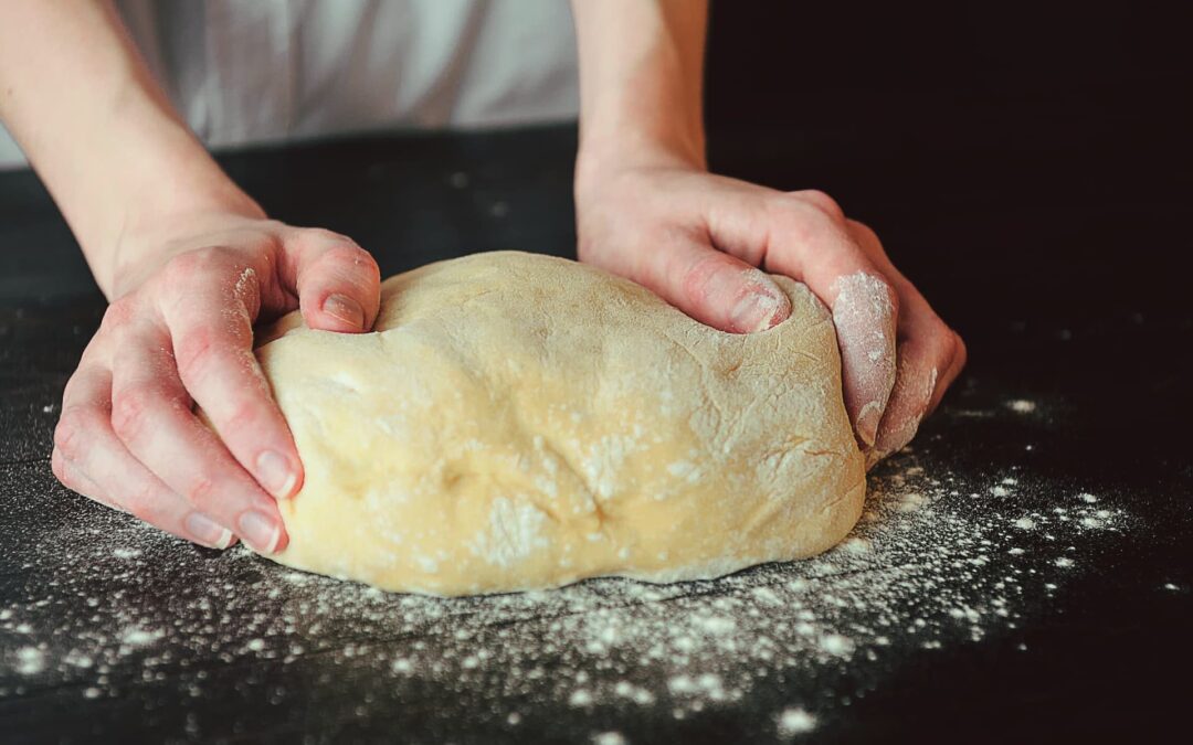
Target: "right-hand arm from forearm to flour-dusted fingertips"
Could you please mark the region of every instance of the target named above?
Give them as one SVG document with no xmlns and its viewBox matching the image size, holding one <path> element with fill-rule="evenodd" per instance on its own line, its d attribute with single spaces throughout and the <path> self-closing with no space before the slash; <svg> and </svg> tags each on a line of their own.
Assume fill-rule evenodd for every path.
<svg viewBox="0 0 1193 745">
<path fill-rule="evenodd" d="M 573 12 L 581 260 L 730 333 L 769 328 L 790 312 L 759 268 L 803 281 L 833 311 L 845 404 L 867 461 L 903 447 L 960 372 L 965 347 L 873 231 L 827 194 L 707 173 L 707 4 L 573 0 Z"/>
</svg>

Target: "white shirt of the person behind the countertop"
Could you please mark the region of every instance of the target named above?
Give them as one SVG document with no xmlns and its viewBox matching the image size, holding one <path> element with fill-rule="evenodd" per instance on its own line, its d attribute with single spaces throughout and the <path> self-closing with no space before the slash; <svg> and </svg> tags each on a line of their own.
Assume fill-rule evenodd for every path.
<svg viewBox="0 0 1193 745">
<path fill-rule="evenodd" d="M 120 0 L 210 148 L 579 111 L 567 0 Z M 24 163 L 0 129 L 0 167 Z"/>
</svg>

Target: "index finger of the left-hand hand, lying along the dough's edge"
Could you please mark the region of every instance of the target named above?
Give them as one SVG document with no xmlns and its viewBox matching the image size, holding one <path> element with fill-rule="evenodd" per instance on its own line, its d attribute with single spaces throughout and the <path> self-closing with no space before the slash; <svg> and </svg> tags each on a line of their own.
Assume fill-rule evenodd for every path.
<svg viewBox="0 0 1193 745">
<path fill-rule="evenodd" d="M 266 491 L 286 499 L 302 486 L 302 460 L 253 354 L 252 318 L 259 291 L 253 268 L 242 267 L 242 261 L 223 255 L 187 267 L 186 281 L 211 288 L 206 293 L 171 294 L 167 283 L 167 297 L 159 305 L 174 360 L 141 359 L 138 364 L 168 367 L 169 377 L 181 380 L 236 461 Z M 222 281 L 225 277 L 249 279 L 229 284 Z"/>
</svg>

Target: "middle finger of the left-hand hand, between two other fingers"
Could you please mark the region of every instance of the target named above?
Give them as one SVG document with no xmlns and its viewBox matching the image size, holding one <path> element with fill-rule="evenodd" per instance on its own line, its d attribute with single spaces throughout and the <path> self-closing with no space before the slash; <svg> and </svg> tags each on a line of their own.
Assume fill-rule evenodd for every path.
<svg viewBox="0 0 1193 745">
<path fill-rule="evenodd" d="M 254 551 L 285 547 L 277 504 L 191 411 L 171 341 L 149 321 L 128 329 L 115 353 L 112 429 L 163 484 Z"/>
</svg>

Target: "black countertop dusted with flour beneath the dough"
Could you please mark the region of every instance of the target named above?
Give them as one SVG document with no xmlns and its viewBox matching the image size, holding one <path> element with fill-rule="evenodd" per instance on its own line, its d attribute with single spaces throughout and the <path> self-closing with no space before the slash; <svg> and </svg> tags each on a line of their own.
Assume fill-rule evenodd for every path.
<svg viewBox="0 0 1193 745">
<path fill-rule="evenodd" d="M 903 103 L 905 110 L 914 105 Z M 50 473 L 103 303 L 29 173 L 0 174 L 0 739 L 1044 740 L 1177 726 L 1193 663 L 1189 170 L 1121 101 L 722 131 L 713 163 L 817 186 L 969 342 L 872 520 L 717 582 L 437 601 L 163 538 Z M 932 108 L 935 106 L 935 108 Z M 570 128 L 251 151 L 276 216 L 383 273 L 568 255 Z M 808 730 L 806 732 L 801 732 Z"/>
</svg>

